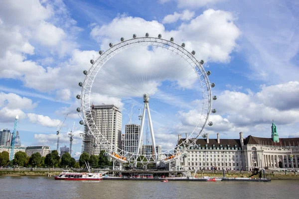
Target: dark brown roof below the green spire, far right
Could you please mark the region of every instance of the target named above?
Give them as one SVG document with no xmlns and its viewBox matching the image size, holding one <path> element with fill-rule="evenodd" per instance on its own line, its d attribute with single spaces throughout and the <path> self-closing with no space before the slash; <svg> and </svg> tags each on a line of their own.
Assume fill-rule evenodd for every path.
<svg viewBox="0 0 299 199">
<path fill-rule="evenodd" d="M 279 138 L 279 142 L 273 142 L 272 138 L 247 136 L 244 138 L 244 144 L 260 144 L 267 146 L 299 146 L 299 137 Z"/>
</svg>

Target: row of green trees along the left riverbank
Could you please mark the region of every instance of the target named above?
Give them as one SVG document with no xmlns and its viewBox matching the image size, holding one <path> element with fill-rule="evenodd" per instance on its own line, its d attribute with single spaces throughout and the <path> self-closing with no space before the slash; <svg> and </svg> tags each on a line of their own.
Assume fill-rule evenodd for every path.
<svg viewBox="0 0 299 199">
<path fill-rule="evenodd" d="M 79 161 L 77 162 L 75 158 L 67 152 L 60 156 L 57 150 L 51 151 L 46 157 L 42 157 L 40 153 L 36 152 L 31 156 L 27 156 L 25 152 L 18 151 L 14 155 L 14 159 L 9 161 L 9 153 L 3 151 L 0 153 L 0 166 L 10 166 L 10 167 L 49 167 L 49 168 L 80 168 L 85 166 L 85 162 L 89 162 L 92 168 L 103 168 L 106 166 L 112 166 L 112 162 L 109 161 L 108 157 L 104 156 L 105 151 L 101 151 L 100 155 L 91 155 L 83 152 L 80 155 Z"/>
</svg>

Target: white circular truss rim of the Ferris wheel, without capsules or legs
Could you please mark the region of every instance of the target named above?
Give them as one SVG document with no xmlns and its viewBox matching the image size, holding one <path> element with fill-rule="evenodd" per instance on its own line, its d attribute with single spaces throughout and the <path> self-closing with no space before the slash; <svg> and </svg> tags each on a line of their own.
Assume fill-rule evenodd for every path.
<svg viewBox="0 0 299 199">
<path fill-rule="evenodd" d="M 156 45 L 154 45 L 154 44 L 156 44 Z M 209 81 L 209 78 L 207 77 L 207 74 L 206 74 L 204 68 L 202 67 L 202 64 L 194 57 L 195 53 L 191 54 L 183 46 L 180 46 L 177 43 L 174 43 L 173 41 L 162 39 L 162 38 L 136 37 L 133 39 L 124 40 L 115 45 L 111 45 L 107 51 L 100 54 L 100 56 L 97 58 L 97 60 L 94 61 L 94 63 L 92 63 L 92 66 L 88 70 L 87 74 L 85 74 L 86 77 L 84 79 L 84 83 L 83 83 L 82 90 L 81 90 L 81 112 L 84 116 L 84 123 L 87 125 L 90 132 L 92 132 L 92 127 L 93 127 L 96 130 L 98 130 L 98 132 L 100 133 L 97 125 L 95 125 L 94 118 L 93 118 L 92 114 L 90 113 L 91 105 L 92 105 L 91 101 L 90 101 L 90 98 L 91 98 L 90 95 L 92 93 L 91 89 L 93 86 L 94 79 L 96 78 L 96 76 L 97 76 L 98 72 L 101 70 L 101 68 L 106 64 L 107 61 L 109 61 L 112 57 L 117 55 L 119 52 L 124 51 L 129 48 L 132 48 L 132 47 L 143 46 L 143 45 L 147 45 L 147 46 L 151 45 L 151 46 L 161 47 L 161 48 L 165 48 L 167 50 L 172 49 L 172 52 L 175 51 L 175 53 L 177 55 L 179 55 L 181 58 L 183 58 L 185 60 L 185 62 L 187 62 L 194 69 L 195 73 L 197 74 L 197 78 L 199 80 L 201 80 L 200 77 L 203 78 L 203 80 L 205 82 L 204 85 L 206 86 L 206 91 L 203 90 L 204 86 L 202 86 L 202 94 L 205 95 L 205 93 L 206 93 L 206 96 L 204 96 L 203 99 L 206 98 L 207 100 L 204 100 L 205 102 L 203 103 L 203 106 L 201 108 L 202 109 L 201 115 L 204 115 L 203 114 L 204 109 L 207 109 L 207 110 L 205 111 L 205 114 L 206 114 L 205 121 L 202 124 L 201 128 L 199 129 L 199 132 L 197 132 L 197 136 L 195 137 L 195 139 L 192 140 L 192 143 L 189 143 L 189 144 L 194 144 L 197 137 L 200 136 L 200 134 L 202 133 L 206 123 L 208 122 L 209 115 L 211 113 L 212 94 L 211 94 L 210 81 Z M 191 64 L 194 64 L 196 67 L 195 66 L 193 67 Z M 96 69 L 98 69 L 98 70 L 95 71 Z M 200 76 L 198 75 L 198 72 L 201 74 Z M 200 81 L 200 83 L 201 83 L 201 85 L 203 85 L 202 81 Z M 206 107 L 204 107 L 204 105 L 206 105 Z M 197 122 L 197 124 L 194 127 L 191 134 L 193 134 L 194 131 L 196 131 L 196 128 L 198 127 L 199 123 L 200 123 L 200 119 Z M 98 138 L 95 137 L 94 132 L 92 132 L 91 135 L 94 137 L 95 140 L 97 140 L 97 142 L 99 144 L 102 145 L 103 148 L 106 149 L 107 152 L 109 151 L 109 153 L 110 153 L 112 151 L 110 148 L 108 148 L 108 146 L 111 146 L 113 144 L 110 143 L 107 139 L 105 140 L 104 136 L 102 136 L 102 138 L 101 138 L 102 140 L 98 140 Z M 186 143 L 186 142 L 183 142 L 183 143 Z M 114 146 L 116 149 L 119 149 L 117 145 L 114 145 Z M 169 151 L 174 151 L 175 148 L 176 147 L 173 147 L 172 149 L 167 150 L 166 152 L 169 153 Z M 120 150 L 123 152 L 126 152 L 122 149 L 120 149 Z M 162 152 L 160 154 L 165 154 L 166 152 Z M 180 151 L 180 153 L 176 156 L 176 158 L 179 157 L 183 152 L 184 151 Z M 127 154 L 131 154 L 131 153 L 127 153 Z M 109 154 L 109 156 L 113 157 L 113 155 L 111 155 L 111 154 Z M 113 158 L 115 158 L 115 157 L 113 157 Z M 174 158 L 172 160 L 174 160 Z M 117 159 L 117 158 L 115 158 L 115 159 Z M 170 160 L 170 161 L 172 161 L 172 160 Z M 123 162 L 123 163 L 128 162 L 128 161 L 122 161 L 122 160 L 119 160 L 119 161 Z M 164 161 L 164 162 L 167 162 L 167 161 Z M 131 161 L 131 162 L 143 162 L 143 161 L 135 160 L 135 161 Z M 129 163 L 130 163 L 130 161 L 129 161 Z"/>
</svg>

